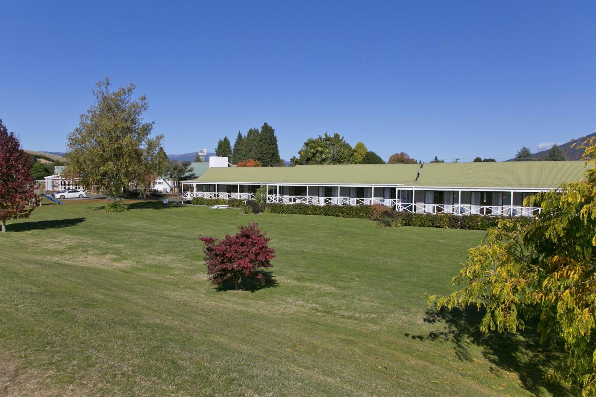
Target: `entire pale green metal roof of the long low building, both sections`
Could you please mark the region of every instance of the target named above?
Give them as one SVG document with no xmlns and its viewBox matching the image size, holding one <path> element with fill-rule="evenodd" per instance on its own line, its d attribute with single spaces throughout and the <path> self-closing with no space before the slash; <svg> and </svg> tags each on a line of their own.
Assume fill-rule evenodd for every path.
<svg viewBox="0 0 596 397">
<path fill-rule="evenodd" d="M 416 181 L 419 169 L 417 164 L 211 168 L 187 182 L 555 188 L 577 181 L 585 170 L 582 161 L 426 163 Z"/>
</svg>

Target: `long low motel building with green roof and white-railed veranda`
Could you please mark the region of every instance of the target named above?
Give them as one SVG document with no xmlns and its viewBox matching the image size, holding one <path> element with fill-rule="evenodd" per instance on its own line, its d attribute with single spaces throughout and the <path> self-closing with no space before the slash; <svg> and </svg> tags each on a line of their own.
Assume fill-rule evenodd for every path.
<svg viewBox="0 0 596 397">
<path fill-rule="evenodd" d="M 583 161 L 212 167 L 182 182 L 182 200 L 252 200 L 318 206 L 384 204 L 396 211 L 453 215 L 534 216 L 524 198 L 578 181 Z"/>
</svg>

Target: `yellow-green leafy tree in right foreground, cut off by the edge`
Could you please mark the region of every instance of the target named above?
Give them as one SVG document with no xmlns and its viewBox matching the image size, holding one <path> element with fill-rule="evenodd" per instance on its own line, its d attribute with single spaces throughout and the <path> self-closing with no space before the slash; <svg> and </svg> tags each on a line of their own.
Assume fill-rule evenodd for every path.
<svg viewBox="0 0 596 397">
<path fill-rule="evenodd" d="M 539 318 L 541 341 L 564 345 L 551 379 L 587 396 L 596 394 L 596 142 L 576 144 L 588 160 L 583 179 L 528 197 L 524 205 L 542 207 L 536 222 L 489 229 L 452 280 L 465 287 L 429 302 L 486 310 L 485 333 L 516 332 Z"/>
</svg>

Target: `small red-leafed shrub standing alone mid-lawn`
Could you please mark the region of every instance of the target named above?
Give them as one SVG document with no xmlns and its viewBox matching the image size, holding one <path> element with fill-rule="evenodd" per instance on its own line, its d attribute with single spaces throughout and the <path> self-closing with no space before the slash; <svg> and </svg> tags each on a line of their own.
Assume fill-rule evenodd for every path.
<svg viewBox="0 0 596 397">
<path fill-rule="evenodd" d="M 271 267 L 275 258 L 274 249 L 269 248 L 269 238 L 261 232 L 259 225 L 238 227 L 235 235 L 226 235 L 224 240 L 213 237 L 199 237 L 205 243 L 205 263 L 212 284 L 232 283 L 237 290 L 248 279 L 256 278 L 265 284 L 262 269 Z"/>
</svg>

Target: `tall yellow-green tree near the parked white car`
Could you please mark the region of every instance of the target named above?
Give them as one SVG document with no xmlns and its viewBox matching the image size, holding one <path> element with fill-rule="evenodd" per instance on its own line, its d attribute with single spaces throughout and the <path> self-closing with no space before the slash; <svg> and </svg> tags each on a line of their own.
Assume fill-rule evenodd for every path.
<svg viewBox="0 0 596 397">
<path fill-rule="evenodd" d="M 168 160 L 163 135 L 151 138 L 154 122 L 144 122 L 145 95 L 134 99 L 133 84 L 110 89 L 110 81 L 92 90 L 95 104 L 81 114 L 79 126 L 68 136 L 64 175 L 79 178 L 88 189 L 122 197 L 134 183 L 147 191 Z"/>
</svg>

